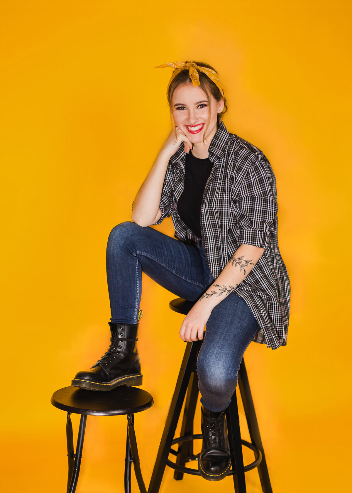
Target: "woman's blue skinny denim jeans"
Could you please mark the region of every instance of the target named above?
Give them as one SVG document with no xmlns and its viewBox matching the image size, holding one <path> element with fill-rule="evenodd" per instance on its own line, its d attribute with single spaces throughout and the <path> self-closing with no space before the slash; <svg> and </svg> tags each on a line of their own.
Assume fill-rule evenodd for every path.
<svg viewBox="0 0 352 493">
<path fill-rule="evenodd" d="M 214 281 L 201 239 L 193 246 L 149 226 L 122 222 L 111 230 L 106 247 L 111 322 L 137 323 L 142 272 L 190 301 Z M 230 404 L 242 356 L 258 329 L 248 305 L 234 292 L 213 308 L 197 359 L 201 403 L 211 411 Z"/>
</svg>

